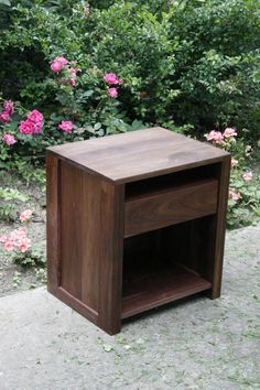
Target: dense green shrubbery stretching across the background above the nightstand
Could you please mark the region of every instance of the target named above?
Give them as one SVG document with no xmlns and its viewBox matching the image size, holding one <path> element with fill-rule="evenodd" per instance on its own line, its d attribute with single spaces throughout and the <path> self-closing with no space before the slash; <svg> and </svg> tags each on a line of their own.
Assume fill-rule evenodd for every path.
<svg viewBox="0 0 260 390">
<path fill-rule="evenodd" d="M 91 132 L 100 123 L 97 136 L 131 130 L 140 120 L 196 134 L 236 124 L 249 130 L 247 138 L 259 138 L 258 1 L 10 3 L 0 6 L 3 97 L 37 108 L 47 123 L 64 117 L 72 102 L 77 109 L 86 94 L 78 119 Z M 57 56 L 82 69 L 77 96 L 53 78 L 50 63 Z M 106 72 L 120 75 L 124 85 L 117 104 L 100 107 Z"/>
</svg>

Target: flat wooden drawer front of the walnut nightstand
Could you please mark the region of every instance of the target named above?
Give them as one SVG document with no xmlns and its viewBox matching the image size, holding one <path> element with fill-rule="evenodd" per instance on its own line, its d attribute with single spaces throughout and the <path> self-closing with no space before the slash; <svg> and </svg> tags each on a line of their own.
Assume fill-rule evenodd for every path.
<svg viewBox="0 0 260 390">
<path fill-rule="evenodd" d="M 134 196 L 124 204 L 124 237 L 217 212 L 218 182 L 210 178 Z"/>
</svg>

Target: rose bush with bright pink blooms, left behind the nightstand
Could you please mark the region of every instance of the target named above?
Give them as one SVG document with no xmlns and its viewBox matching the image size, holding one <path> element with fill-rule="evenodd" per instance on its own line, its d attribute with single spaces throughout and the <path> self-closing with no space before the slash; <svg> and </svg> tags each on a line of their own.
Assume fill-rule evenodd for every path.
<svg viewBox="0 0 260 390">
<path fill-rule="evenodd" d="M 20 102 L 2 101 L 1 166 L 15 167 L 19 156 L 44 156 L 47 145 L 131 128 L 119 118 L 117 109 L 119 102 L 116 98 L 123 88 L 122 79 L 113 73 L 102 74 L 100 71 L 93 76 L 89 69 L 79 69 L 72 65 L 75 66 L 76 62 L 69 62 L 64 56 L 55 57 L 48 65 L 59 100 L 55 113 L 45 115 L 44 118 L 39 109 L 28 112 Z M 95 90 L 84 90 L 83 86 L 87 83 L 88 87 L 94 83 Z"/>
</svg>

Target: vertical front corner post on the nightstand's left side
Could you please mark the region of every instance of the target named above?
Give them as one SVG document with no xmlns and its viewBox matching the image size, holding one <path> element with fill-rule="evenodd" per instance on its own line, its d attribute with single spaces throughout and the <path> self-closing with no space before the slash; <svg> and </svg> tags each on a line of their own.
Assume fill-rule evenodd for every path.
<svg viewBox="0 0 260 390">
<path fill-rule="evenodd" d="M 124 186 L 100 185 L 98 326 L 112 335 L 121 328 Z"/>
</svg>

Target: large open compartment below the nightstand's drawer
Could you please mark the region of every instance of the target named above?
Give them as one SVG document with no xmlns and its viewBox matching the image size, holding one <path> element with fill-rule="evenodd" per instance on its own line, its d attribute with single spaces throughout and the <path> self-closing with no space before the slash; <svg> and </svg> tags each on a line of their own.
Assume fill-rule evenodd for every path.
<svg viewBox="0 0 260 390">
<path fill-rule="evenodd" d="M 210 290 L 214 217 L 124 238 L 121 318 Z"/>
</svg>

